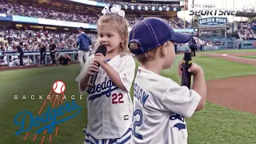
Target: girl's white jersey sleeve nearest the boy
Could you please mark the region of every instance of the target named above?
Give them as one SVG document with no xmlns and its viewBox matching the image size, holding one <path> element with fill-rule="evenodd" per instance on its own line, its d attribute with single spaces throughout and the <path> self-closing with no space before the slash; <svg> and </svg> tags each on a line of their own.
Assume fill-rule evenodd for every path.
<svg viewBox="0 0 256 144">
<path fill-rule="evenodd" d="M 134 81 L 135 74 L 135 62 L 132 56 L 125 55 L 122 58 L 120 64 L 119 77 L 122 81 L 123 86 L 126 87 L 126 90 L 129 92 L 132 82 Z"/>
</svg>

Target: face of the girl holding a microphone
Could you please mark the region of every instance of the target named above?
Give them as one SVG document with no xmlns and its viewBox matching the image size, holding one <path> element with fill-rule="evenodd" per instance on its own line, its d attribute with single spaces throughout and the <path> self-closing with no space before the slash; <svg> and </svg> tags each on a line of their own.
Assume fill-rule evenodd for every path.
<svg viewBox="0 0 256 144">
<path fill-rule="evenodd" d="M 99 45 L 106 46 L 106 53 L 117 53 L 120 49 L 122 38 L 114 25 L 103 23 L 98 26 Z"/>
</svg>

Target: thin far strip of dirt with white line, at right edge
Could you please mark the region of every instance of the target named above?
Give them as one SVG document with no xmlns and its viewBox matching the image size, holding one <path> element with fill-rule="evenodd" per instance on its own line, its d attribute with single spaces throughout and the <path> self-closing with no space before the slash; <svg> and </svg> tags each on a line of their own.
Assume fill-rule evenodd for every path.
<svg viewBox="0 0 256 144">
<path fill-rule="evenodd" d="M 224 54 L 224 53 L 223 53 Z M 249 65 L 256 66 L 256 59 L 250 59 L 250 58 L 240 58 L 240 56 L 253 56 L 256 55 L 256 53 L 226 53 L 226 54 L 204 54 L 206 56 L 214 57 L 214 58 L 222 58 L 228 61 L 233 62 L 239 62 Z"/>
</svg>

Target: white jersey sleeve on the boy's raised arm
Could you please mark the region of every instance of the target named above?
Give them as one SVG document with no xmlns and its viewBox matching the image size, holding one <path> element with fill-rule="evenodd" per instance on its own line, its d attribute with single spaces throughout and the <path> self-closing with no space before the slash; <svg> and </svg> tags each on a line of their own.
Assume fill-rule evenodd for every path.
<svg viewBox="0 0 256 144">
<path fill-rule="evenodd" d="M 189 90 L 186 86 L 179 86 L 176 82 L 171 82 L 170 88 L 162 95 L 162 110 L 168 110 L 175 114 L 180 114 L 184 118 L 190 118 L 201 96 L 194 90 Z"/>
</svg>

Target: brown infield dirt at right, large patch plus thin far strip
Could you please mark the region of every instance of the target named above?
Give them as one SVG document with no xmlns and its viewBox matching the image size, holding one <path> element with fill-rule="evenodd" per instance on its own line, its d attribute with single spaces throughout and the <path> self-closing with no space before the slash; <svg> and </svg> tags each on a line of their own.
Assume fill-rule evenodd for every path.
<svg viewBox="0 0 256 144">
<path fill-rule="evenodd" d="M 224 54 L 224 53 L 223 53 Z M 205 54 L 214 58 L 222 58 L 228 61 L 245 63 L 256 66 L 256 60 L 239 58 L 239 56 L 251 56 L 256 53 L 229 53 Z M 256 72 L 255 72 L 256 74 Z M 207 82 L 207 101 L 220 106 L 230 107 L 234 110 L 246 111 L 256 114 L 256 75 L 223 78 Z"/>
</svg>

